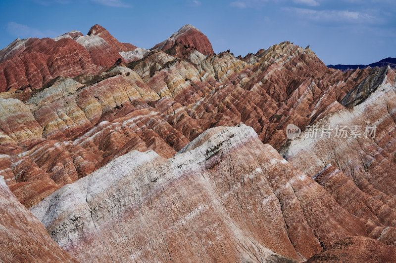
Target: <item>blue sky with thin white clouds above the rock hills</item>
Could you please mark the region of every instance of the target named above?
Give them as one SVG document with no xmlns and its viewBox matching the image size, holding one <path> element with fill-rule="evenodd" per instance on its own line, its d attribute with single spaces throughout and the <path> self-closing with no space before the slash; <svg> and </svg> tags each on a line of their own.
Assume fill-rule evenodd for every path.
<svg viewBox="0 0 396 263">
<path fill-rule="evenodd" d="M 289 40 L 326 64 L 396 57 L 396 0 L 1 0 L 0 49 L 95 24 L 144 48 L 192 24 L 216 53 L 245 56 Z"/>
</svg>

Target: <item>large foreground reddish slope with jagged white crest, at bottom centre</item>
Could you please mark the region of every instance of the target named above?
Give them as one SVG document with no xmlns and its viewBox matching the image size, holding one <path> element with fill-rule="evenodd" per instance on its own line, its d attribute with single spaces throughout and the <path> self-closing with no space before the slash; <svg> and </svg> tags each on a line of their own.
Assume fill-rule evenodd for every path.
<svg viewBox="0 0 396 263">
<path fill-rule="evenodd" d="M 81 262 L 261 262 L 271 251 L 302 261 L 366 235 L 243 124 L 209 129 L 168 160 L 125 154 L 31 211 Z"/>
</svg>

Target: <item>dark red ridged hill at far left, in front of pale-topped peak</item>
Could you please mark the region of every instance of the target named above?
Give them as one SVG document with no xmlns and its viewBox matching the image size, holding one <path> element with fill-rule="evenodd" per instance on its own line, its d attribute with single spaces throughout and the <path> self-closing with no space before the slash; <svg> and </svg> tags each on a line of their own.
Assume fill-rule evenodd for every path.
<svg viewBox="0 0 396 263">
<path fill-rule="evenodd" d="M 71 38 L 30 38 L 25 45 L 23 52 L 0 64 L 0 92 L 38 88 L 56 76 L 96 75 L 100 69 L 88 51 Z"/>
</svg>

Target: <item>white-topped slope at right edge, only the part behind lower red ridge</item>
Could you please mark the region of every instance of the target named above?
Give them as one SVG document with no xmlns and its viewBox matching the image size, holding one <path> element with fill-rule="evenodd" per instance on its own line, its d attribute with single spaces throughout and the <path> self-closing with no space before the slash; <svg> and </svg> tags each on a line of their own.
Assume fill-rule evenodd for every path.
<svg viewBox="0 0 396 263">
<path fill-rule="evenodd" d="M 310 176 L 331 164 L 362 191 L 394 205 L 395 107 L 395 76 L 390 70 L 378 89 L 361 104 L 329 114 L 315 123 L 318 135 L 322 126 L 328 128 L 330 125 L 335 135 L 337 125 L 339 128 L 357 125 L 359 136 L 348 133 L 346 136 L 317 136 L 313 139 L 303 132 L 283 150 L 283 156 Z M 372 138 L 374 134 L 365 134 L 365 131 L 366 127 L 374 126 L 377 128 Z"/>
</svg>

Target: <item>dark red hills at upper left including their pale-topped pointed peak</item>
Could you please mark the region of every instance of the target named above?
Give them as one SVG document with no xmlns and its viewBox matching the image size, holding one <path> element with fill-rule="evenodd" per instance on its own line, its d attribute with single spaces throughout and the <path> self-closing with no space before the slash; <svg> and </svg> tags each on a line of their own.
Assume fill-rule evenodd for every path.
<svg viewBox="0 0 396 263">
<path fill-rule="evenodd" d="M 36 89 L 57 76 L 97 75 L 122 56 L 136 49 L 117 41 L 99 25 L 87 36 L 71 31 L 57 38 L 16 39 L 0 51 L 0 92 Z M 125 61 L 141 59 L 144 52 L 126 55 Z"/>
</svg>

